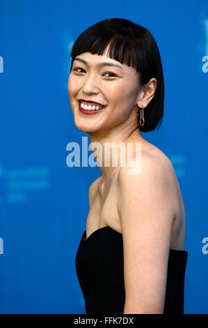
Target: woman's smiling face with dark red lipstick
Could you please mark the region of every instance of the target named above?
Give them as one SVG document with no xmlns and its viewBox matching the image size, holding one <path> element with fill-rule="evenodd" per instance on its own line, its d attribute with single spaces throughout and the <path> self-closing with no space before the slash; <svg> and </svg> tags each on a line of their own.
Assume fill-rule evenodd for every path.
<svg viewBox="0 0 208 328">
<path fill-rule="evenodd" d="M 101 133 L 122 124 L 132 114 L 139 94 L 138 72 L 126 64 L 84 52 L 75 57 L 68 80 L 74 123 L 86 133 Z M 113 66 L 116 65 L 116 66 Z M 80 99 L 104 105 L 101 111 L 81 112 Z M 82 105 L 86 105 L 83 103 Z M 135 109 L 138 111 L 138 107 Z M 135 120 L 136 120 L 135 115 Z M 132 121 L 131 121 L 132 123 Z"/>
</svg>

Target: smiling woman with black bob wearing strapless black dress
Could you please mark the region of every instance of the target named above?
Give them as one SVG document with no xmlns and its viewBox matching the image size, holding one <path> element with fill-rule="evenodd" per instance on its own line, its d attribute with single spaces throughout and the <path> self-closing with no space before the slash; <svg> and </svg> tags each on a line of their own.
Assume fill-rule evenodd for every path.
<svg viewBox="0 0 208 328">
<path fill-rule="evenodd" d="M 74 123 L 101 146 L 94 154 L 102 176 L 89 189 L 76 256 L 86 314 L 183 313 L 188 253 L 182 194 L 171 162 L 141 135 L 163 118 L 157 43 L 147 29 L 112 18 L 81 33 L 71 56 Z M 140 153 L 134 147 L 127 165 L 120 165 L 118 150 L 118 165 L 112 165 L 108 142 L 139 144 Z"/>
</svg>

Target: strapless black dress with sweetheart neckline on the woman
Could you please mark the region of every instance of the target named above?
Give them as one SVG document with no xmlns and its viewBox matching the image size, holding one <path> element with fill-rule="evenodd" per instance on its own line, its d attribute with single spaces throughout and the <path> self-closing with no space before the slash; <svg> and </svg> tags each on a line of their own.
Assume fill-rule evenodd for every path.
<svg viewBox="0 0 208 328">
<path fill-rule="evenodd" d="M 184 313 L 187 251 L 170 248 L 163 313 Z M 75 259 L 86 314 L 123 314 L 125 283 L 122 234 L 108 225 L 88 239 L 83 232 Z"/>
</svg>

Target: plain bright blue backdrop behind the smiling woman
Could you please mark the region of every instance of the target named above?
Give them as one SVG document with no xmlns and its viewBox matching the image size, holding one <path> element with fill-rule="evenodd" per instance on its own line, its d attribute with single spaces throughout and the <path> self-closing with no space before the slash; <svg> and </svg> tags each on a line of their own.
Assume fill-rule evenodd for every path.
<svg viewBox="0 0 208 328">
<path fill-rule="evenodd" d="M 161 128 L 143 133 L 175 167 L 189 252 L 184 313 L 208 313 L 205 0 L 0 0 L 0 313 L 85 313 L 75 255 L 99 167 L 68 167 L 81 145 L 67 94 L 70 49 L 106 18 L 143 25 L 159 45 Z M 88 137 L 88 143 L 90 143 Z"/>
</svg>

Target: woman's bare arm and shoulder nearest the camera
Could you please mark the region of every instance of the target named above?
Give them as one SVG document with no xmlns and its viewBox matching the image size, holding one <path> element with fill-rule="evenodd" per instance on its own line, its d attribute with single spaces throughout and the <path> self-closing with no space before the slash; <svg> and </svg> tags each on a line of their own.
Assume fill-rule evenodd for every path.
<svg viewBox="0 0 208 328">
<path fill-rule="evenodd" d="M 124 313 L 163 313 L 173 203 L 169 160 L 142 156 L 141 172 L 118 176 L 118 213 L 124 246 Z"/>
</svg>

